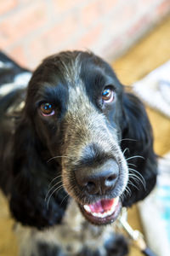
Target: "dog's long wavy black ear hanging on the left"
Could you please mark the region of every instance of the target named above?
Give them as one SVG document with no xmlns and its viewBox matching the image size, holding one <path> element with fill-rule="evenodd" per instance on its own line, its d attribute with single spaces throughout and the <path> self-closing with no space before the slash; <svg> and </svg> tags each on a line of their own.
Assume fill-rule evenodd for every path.
<svg viewBox="0 0 170 256">
<path fill-rule="evenodd" d="M 14 218 L 38 229 L 59 223 L 66 207 L 66 200 L 62 202 L 65 191 L 59 190 L 59 196 L 51 196 L 49 205 L 45 201 L 49 183 L 58 174 L 58 166 L 54 164 L 52 168 L 42 159 L 44 148 L 26 119 L 20 119 L 17 125 L 13 150 L 9 200 Z"/>
</svg>

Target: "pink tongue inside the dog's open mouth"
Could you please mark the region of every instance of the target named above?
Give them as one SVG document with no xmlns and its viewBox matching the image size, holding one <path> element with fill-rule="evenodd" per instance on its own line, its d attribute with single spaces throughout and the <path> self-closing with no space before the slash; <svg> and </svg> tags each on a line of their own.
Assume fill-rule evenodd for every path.
<svg viewBox="0 0 170 256">
<path fill-rule="evenodd" d="M 96 212 L 96 213 L 106 212 L 111 209 L 113 203 L 114 203 L 114 199 L 101 200 L 101 201 L 97 201 L 93 205 L 89 205 L 88 207 L 90 207 L 90 210 L 92 212 Z"/>
</svg>

